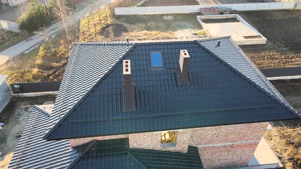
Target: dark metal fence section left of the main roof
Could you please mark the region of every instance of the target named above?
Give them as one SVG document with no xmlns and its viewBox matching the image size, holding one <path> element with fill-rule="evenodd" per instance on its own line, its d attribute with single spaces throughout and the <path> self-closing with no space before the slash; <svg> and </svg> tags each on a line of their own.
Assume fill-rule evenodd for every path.
<svg viewBox="0 0 301 169">
<path fill-rule="evenodd" d="M 16 91 L 14 86 L 20 86 L 20 90 Z M 42 81 L 42 82 L 29 82 L 29 83 L 13 83 L 9 84 L 13 94 L 20 93 L 39 93 L 39 92 L 57 92 L 59 91 L 61 81 Z"/>
</svg>

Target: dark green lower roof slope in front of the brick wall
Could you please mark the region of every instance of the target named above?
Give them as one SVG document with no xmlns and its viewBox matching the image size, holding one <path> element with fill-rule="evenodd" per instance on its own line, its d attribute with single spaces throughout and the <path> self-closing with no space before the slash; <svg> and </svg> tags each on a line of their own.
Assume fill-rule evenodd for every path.
<svg viewBox="0 0 301 169">
<path fill-rule="evenodd" d="M 78 160 L 68 167 L 80 168 L 203 168 L 196 147 L 187 153 L 130 149 L 129 139 L 95 140 Z"/>
</svg>

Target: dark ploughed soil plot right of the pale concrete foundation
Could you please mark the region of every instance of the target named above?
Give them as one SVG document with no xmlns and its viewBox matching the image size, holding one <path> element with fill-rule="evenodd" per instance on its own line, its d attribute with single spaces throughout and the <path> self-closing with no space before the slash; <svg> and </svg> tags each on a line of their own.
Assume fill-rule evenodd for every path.
<svg viewBox="0 0 301 169">
<path fill-rule="evenodd" d="M 301 66 L 301 11 L 256 11 L 239 15 L 267 38 L 265 45 L 240 46 L 256 66 Z"/>
</svg>

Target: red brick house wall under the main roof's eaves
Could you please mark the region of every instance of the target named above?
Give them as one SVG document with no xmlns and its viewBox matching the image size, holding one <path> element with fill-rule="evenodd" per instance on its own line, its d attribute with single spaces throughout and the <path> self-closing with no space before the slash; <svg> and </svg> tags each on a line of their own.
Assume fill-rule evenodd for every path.
<svg viewBox="0 0 301 169">
<path fill-rule="evenodd" d="M 161 145 L 161 133 L 147 132 L 113 136 L 69 139 L 72 146 L 92 139 L 129 138 L 131 148 L 186 153 L 188 146 L 198 147 L 205 168 L 247 166 L 268 123 L 238 124 L 176 130 L 175 147 Z"/>
</svg>

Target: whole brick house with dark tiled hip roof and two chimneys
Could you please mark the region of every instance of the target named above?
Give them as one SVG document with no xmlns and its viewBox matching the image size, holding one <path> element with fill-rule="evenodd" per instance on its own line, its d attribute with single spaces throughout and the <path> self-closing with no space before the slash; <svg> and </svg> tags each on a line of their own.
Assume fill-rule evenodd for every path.
<svg viewBox="0 0 301 169">
<path fill-rule="evenodd" d="M 246 167 L 267 122 L 297 118 L 230 37 L 75 43 L 9 168 Z"/>
</svg>

